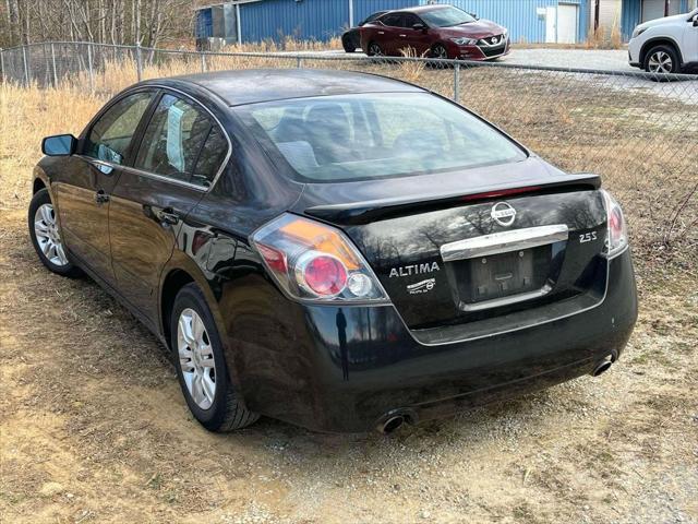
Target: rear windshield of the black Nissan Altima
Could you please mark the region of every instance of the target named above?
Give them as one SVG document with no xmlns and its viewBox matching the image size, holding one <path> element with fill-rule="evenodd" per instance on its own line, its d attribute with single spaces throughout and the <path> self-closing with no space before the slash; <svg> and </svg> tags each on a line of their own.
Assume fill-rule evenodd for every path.
<svg viewBox="0 0 698 524">
<path fill-rule="evenodd" d="M 505 135 L 428 93 L 296 98 L 236 108 L 297 179 L 405 177 L 526 158 Z"/>
</svg>

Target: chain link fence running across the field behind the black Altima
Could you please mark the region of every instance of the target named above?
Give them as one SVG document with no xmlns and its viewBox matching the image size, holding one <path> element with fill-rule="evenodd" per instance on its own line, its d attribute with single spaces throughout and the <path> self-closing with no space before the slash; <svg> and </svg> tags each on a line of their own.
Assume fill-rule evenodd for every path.
<svg viewBox="0 0 698 524">
<path fill-rule="evenodd" d="M 636 230 L 657 242 L 698 246 L 698 75 L 87 43 L 33 44 L 0 57 L 5 83 L 105 98 L 140 80 L 252 68 L 354 70 L 411 82 L 474 110 L 563 169 L 601 174 L 631 202 Z"/>
</svg>

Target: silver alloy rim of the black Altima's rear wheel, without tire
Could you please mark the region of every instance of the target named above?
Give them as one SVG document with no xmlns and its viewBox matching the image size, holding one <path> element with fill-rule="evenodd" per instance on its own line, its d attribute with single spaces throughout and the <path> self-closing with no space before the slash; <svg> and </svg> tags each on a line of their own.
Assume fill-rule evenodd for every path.
<svg viewBox="0 0 698 524">
<path fill-rule="evenodd" d="M 198 407 L 208 409 L 216 396 L 216 362 L 204 321 L 193 309 L 179 315 L 177 349 L 189 394 Z"/>
</svg>

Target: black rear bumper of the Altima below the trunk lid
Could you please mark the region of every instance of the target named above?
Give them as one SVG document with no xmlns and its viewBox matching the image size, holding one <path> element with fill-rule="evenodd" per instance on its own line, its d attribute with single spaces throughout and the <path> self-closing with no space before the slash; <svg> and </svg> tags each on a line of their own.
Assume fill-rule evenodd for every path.
<svg viewBox="0 0 698 524">
<path fill-rule="evenodd" d="M 593 309 L 440 346 L 418 343 L 392 306 L 279 299 L 274 319 L 281 325 L 273 331 L 281 349 L 261 349 L 267 335 L 257 330 L 257 349 L 242 356 L 238 380 L 251 409 L 321 431 L 370 430 L 395 410 L 426 420 L 544 389 L 623 352 L 637 319 L 629 251 L 609 270 L 605 299 Z"/>
</svg>

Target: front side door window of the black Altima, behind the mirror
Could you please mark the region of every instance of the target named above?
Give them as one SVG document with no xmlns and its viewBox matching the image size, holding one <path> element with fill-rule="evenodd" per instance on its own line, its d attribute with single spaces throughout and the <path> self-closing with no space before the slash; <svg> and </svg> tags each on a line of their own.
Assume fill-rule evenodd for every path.
<svg viewBox="0 0 698 524">
<path fill-rule="evenodd" d="M 83 154 L 111 164 L 123 164 L 131 139 L 154 96 L 152 91 L 134 93 L 113 104 L 87 133 Z"/>
</svg>

